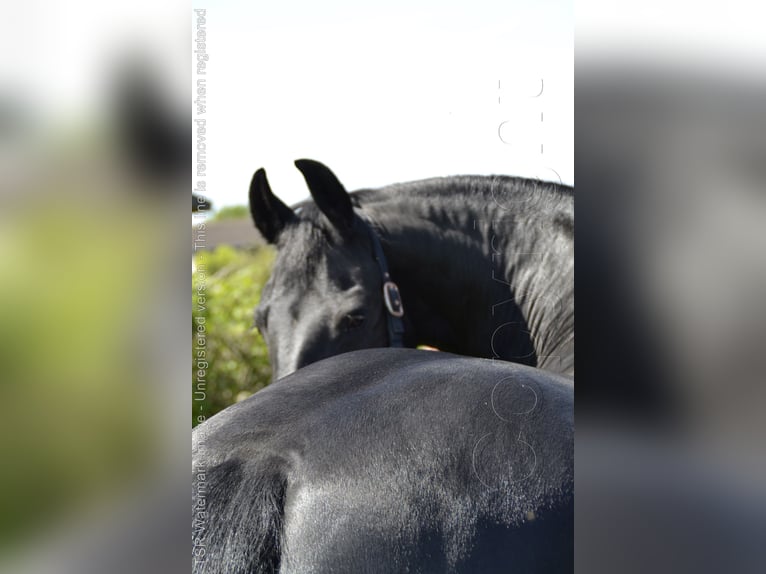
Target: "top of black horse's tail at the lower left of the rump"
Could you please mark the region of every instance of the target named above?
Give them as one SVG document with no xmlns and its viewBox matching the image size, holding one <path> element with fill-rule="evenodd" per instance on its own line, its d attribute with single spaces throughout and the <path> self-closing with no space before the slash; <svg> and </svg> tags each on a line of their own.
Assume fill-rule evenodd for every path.
<svg viewBox="0 0 766 574">
<path fill-rule="evenodd" d="M 286 461 L 229 459 L 193 471 L 192 572 L 276 574 L 284 540 Z"/>
</svg>

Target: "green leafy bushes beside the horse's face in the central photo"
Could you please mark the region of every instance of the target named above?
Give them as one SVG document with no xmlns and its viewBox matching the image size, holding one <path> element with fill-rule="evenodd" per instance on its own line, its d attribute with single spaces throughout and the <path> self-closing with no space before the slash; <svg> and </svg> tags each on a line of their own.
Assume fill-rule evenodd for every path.
<svg viewBox="0 0 766 574">
<path fill-rule="evenodd" d="M 273 262 L 274 251 L 269 247 L 248 251 L 223 245 L 194 256 L 192 426 L 203 420 L 200 415 L 209 418 L 271 381 L 268 350 L 253 328 L 253 311 Z M 203 349 L 197 337 L 200 324 L 204 325 L 206 363 L 198 357 Z"/>
</svg>

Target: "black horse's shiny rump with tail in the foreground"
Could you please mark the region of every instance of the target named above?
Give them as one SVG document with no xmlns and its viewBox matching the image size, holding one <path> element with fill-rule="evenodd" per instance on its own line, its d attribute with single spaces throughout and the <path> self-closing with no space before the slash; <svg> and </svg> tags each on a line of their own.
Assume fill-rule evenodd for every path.
<svg viewBox="0 0 766 574">
<path fill-rule="evenodd" d="M 523 365 L 367 349 L 193 432 L 196 574 L 573 568 L 573 387 Z"/>
</svg>

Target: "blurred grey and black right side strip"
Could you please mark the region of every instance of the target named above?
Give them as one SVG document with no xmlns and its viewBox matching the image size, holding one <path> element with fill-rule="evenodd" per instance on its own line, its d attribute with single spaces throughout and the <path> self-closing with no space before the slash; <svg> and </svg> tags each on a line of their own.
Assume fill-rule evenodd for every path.
<svg viewBox="0 0 766 574">
<path fill-rule="evenodd" d="M 578 571 L 766 569 L 757 28 L 578 3 Z"/>
</svg>

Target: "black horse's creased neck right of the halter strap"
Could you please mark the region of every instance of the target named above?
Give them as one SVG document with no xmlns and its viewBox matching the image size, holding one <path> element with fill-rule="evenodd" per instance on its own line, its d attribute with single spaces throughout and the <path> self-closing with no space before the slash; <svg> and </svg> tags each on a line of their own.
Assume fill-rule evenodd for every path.
<svg viewBox="0 0 766 574">
<path fill-rule="evenodd" d="M 438 208 L 412 194 L 367 210 L 402 293 L 406 344 L 567 372 L 571 240 L 539 215 L 464 199 Z"/>
</svg>

